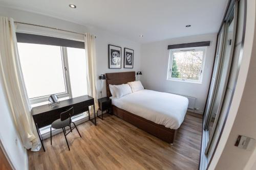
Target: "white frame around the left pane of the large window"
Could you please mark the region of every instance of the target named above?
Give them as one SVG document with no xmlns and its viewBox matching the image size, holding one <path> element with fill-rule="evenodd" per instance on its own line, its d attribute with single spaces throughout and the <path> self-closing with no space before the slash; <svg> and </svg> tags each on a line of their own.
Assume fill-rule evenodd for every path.
<svg viewBox="0 0 256 170">
<path fill-rule="evenodd" d="M 31 43 L 33 44 L 33 43 Z M 57 46 L 57 45 L 56 45 Z M 68 53 L 67 53 L 67 47 L 65 46 L 59 46 L 61 51 L 61 61 L 62 61 L 62 71 L 63 71 L 63 77 L 65 82 L 65 92 L 57 93 L 59 99 L 61 98 L 72 98 L 72 90 L 71 90 L 71 84 L 70 84 L 70 76 L 69 76 L 69 64 L 68 64 Z M 30 104 L 38 104 L 42 102 L 47 102 L 50 95 L 44 95 L 44 96 L 38 96 L 37 98 L 30 98 Z"/>
</svg>

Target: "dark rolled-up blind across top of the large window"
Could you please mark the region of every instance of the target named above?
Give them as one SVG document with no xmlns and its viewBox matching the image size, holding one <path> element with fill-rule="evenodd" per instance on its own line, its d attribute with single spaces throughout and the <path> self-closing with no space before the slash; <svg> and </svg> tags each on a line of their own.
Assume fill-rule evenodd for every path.
<svg viewBox="0 0 256 170">
<path fill-rule="evenodd" d="M 84 42 L 35 34 L 16 33 L 17 42 L 83 48 Z"/>
</svg>

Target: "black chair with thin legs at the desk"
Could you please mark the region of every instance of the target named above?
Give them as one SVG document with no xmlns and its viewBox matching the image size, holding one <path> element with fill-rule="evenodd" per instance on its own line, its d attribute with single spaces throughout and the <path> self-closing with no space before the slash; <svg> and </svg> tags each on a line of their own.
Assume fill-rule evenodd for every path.
<svg viewBox="0 0 256 170">
<path fill-rule="evenodd" d="M 77 129 L 75 123 L 71 121 L 71 117 L 73 116 L 73 113 L 74 113 L 74 108 L 72 107 L 72 108 L 70 108 L 69 110 L 60 113 L 60 118 L 57 119 L 57 120 L 55 120 L 55 121 L 52 123 L 51 128 L 50 128 L 50 130 L 51 130 L 51 145 L 52 145 L 52 128 L 54 128 L 54 129 L 62 129 L 63 134 L 64 134 L 65 139 L 66 139 L 66 142 L 67 142 L 67 144 L 68 144 L 68 147 L 69 147 L 69 143 L 68 143 L 68 140 L 67 140 L 67 137 L 66 137 L 66 136 L 67 136 L 70 132 L 72 132 L 72 130 L 74 130 L 74 129 L 76 128 L 76 130 L 77 130 L 79 136 L 82 137 L 82 136 L 80 135 L 80 133 L 79 133 L 79 131 L 78 131 L 78 129 Z M 71 128 L 71 123 L 74 124 L 74 128 L 73 128 L 73 129 Z M 67 126 L 70 127 L 70 131 L 69 131 L 68 133 L 66 133 L 66 129 L 65 129 Z M 70 151 L 70 149 L 69 149 L 69 151 Z"/>
</svg>

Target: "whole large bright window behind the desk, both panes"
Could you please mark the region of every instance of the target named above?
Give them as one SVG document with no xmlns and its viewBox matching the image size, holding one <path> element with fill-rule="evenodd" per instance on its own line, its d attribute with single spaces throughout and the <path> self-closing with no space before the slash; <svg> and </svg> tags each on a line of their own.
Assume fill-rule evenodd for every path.
<svg viewBox="0 0 256 170">
<path fill-rule="evenodd" d="M 87 94 L 87 66 L 82 48 L 18 42 L 20 64 L 32 107 Z"/>
</svg>

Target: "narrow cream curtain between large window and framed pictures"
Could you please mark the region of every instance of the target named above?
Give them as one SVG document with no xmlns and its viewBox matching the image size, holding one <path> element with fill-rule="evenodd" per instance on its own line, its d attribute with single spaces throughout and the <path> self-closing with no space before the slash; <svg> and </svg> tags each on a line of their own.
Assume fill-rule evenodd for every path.
<svg viewBox="0 0 256 170">
<path fill-rule="evenodd" d="M 95 36 L 90 33 L 86 33 L 84 36 L 84 43 L 86 48 L 86 59 L 87 59 L 87 89 L 88 95 L 94 98 L 95 110 L 98 110 L 98 98 L 96 89 L 96 51 L 95 51 Z M 90 113 L 93 114 L 93 108 L 90 107 Z"/>
</svg>

